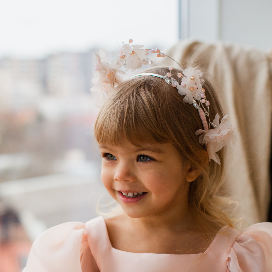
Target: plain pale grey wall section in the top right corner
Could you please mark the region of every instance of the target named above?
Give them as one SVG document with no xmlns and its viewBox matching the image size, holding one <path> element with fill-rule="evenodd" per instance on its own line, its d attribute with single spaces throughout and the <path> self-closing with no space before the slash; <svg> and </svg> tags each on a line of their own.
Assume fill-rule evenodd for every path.
<svg viewBox="0 0 272 272">
<path fill-rule="evenodd" d="M 221 0 L 221 39 L 270 49 L 271 10 L 271 0 Z"/>
</svg>

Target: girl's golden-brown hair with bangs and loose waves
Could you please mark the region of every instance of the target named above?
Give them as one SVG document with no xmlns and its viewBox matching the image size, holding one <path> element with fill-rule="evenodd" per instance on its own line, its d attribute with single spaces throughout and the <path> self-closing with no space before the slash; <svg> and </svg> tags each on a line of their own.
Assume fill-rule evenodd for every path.
<svg viewBox="0 0 272 272">
<path fill-rule="evenodd" d="M 142 72 L 142 71 L 141 71 Z M 165 76 L 167 67 L 144 70 Z M 177 69 L 172 70 L 177 78 Z M 205 78 L 205 76 L 204 76 Z M 210 116 L 224 116 L 212 84 L 203 85 L 210 102 Z M 218 226 L 233 227 L 228 217 L 229 199 L 223 196 L 224 148 L 217 152 L 221 165 L 203 158 L 203 146 L 195 132 L 202 128 L 198 111 L 183 102 L 177 88 L 154 76 L 139 76 L 120 84 L 109 95 L 98 113 L 94 133 L 100 144 L 120 145 L 126 138 L 139 142 L 172 143 L 184 160 L 201 174 L 190 183 L 189 206 L 199 228 L 216 233 Z"/>
</svg>

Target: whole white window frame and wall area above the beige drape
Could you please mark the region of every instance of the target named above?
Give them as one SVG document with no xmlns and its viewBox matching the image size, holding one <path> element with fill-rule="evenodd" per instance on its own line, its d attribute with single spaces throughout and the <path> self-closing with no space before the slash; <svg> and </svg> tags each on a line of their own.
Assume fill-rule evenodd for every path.
<svg viewBox="0 0 272 272">
<path fill-rule="evenodd" d="M 182 38 L 271 49 L 271 0 L 180 1 Z"/>
</svg>

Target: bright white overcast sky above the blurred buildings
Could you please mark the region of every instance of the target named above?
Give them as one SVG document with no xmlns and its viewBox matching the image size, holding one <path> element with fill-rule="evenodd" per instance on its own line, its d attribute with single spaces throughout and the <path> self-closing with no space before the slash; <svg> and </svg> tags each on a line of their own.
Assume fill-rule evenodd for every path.
<svg viewBox="0 0 272 272">
<path fill-rule="evenodd" d="M 0 0 L 0 57 L 178 40 L 177 0 Z"/>
</svg>

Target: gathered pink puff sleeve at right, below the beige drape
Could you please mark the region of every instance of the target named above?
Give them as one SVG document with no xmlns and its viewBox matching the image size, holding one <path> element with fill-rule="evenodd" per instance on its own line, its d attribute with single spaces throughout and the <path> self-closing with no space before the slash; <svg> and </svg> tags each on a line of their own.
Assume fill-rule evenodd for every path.
<svg viewBox="0 0 272 272">
<path fill-rule="evenodd" d="M 227 272 L 271 272 L 272 223 L 247 228 L 233 243 L 227 255 Z"/>
</svg>

